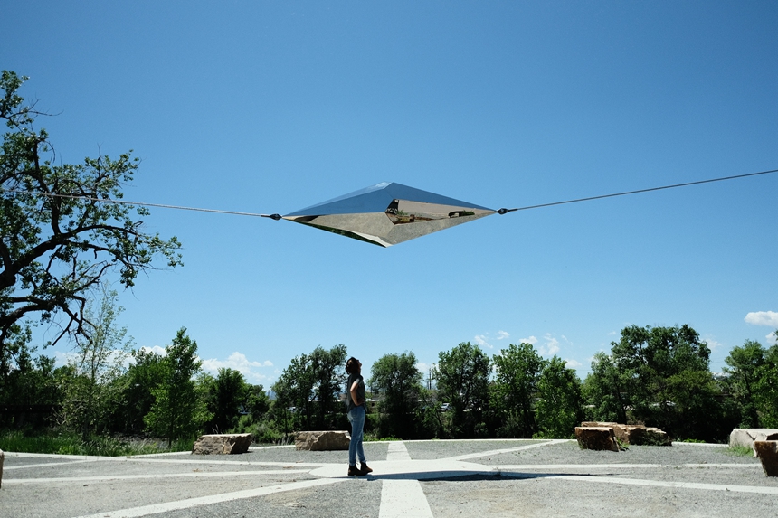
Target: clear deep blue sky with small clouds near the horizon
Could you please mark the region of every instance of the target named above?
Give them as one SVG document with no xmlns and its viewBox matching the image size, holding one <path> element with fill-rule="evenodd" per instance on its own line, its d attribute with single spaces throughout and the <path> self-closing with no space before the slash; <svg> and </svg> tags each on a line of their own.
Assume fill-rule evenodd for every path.
<svg viewBox="0 0 778 518">
<path fill-rule="evenodd" d="M 57 161 L 129 149 L 125 199 L 289 213 L 380 182 L 493 209 L 778 168 L 778 4 L 9 0 Z M 778 174 L 510 212 L 389 249 L 153 209 L 183 268 L 120 293 L 136 347 L 275 381 L 534 344 L 582 377 L 629 325 L 691 325 L 720 372 L 778 329 Z M 164 262 L 160 262 L 164 265 Z M 771 266 L 773 265 L 773 266 Z M 53 332 L 38 327 L 36 343 Z M 68 345 L 44 353 L 63 358 Z"/>
</svg>

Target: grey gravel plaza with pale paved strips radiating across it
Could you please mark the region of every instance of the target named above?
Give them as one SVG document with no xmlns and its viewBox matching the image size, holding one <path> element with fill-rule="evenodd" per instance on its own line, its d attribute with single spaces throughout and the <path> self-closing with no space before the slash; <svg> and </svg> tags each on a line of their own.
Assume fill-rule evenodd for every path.
<svg viewBox="0 0 778 518">
<path fill-rule="evenodd" d="M 581 450 L 568 440 L 365 443 L 374 473 L 346 476 L 345 451 L 253 447 L 74 457 L 6 452 L 3 518 L 778 515 L 778 478 L 726 447 Z"/>
</svg>

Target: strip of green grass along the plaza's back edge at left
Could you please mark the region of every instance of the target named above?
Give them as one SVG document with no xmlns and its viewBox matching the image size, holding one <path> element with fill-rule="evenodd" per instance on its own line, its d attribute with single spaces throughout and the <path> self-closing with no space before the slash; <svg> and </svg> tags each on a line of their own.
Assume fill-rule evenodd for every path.
<svg viewBox="0 0 778 518">
<path fill-rule="evenodd" d="M 123 457 L 171 451 L 190 451 L 193 439 L 181 439 L 167 448 L 166 441 L 153 439 L 120 439 L 94 437 L 81 440 L 76 434 L 47 433 L 28 436 L 21 431 L 0 432 L 0 449 L 16 453 L 48 453 L 58 455 L 89 455 Z"/>
</svg>

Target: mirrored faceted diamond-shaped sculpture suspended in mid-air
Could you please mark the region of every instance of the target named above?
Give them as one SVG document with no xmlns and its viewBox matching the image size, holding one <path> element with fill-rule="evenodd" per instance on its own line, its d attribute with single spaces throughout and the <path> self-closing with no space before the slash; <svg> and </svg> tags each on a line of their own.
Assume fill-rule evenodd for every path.
<svg viewBox="0 0 778 518">
<path fill-rule="evenodd" d="M 323 231 L 390 247 L 495 211 L 403 184 L 383 183 L 283 216 Z"/>
</svg>

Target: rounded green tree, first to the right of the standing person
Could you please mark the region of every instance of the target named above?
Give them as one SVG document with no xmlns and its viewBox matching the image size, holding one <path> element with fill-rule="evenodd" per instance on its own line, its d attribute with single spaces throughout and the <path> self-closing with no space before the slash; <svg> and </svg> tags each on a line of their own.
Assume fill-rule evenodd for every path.
<svg viewBox="0 0 778 518">
<path fill-rule="evenodd" d="M 367 382 L 381 396 L 381 435 L 410 438 L 415 434 L 414 412 L 422 400 L 422 372 L 413 353 L 384 354 L 370 369 Z"/>
</svg>

